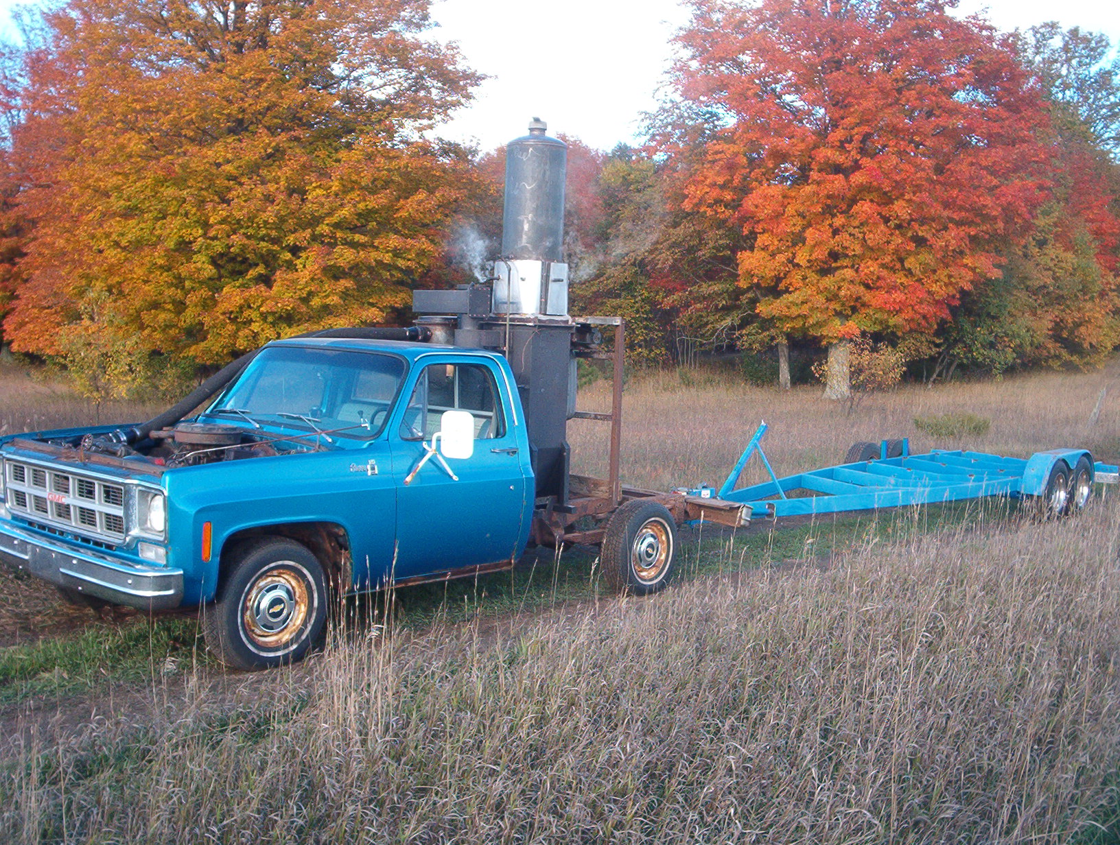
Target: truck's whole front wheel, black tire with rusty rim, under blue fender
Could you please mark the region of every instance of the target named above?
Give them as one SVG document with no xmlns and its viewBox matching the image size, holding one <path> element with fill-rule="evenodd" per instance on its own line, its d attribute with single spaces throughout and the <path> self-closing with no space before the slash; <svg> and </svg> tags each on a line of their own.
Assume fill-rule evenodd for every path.
<svg viewBox="0 0 1120 845">
<path fill-rule="evenodd" d="M 226 562 L 224 562 L 226 563 Z M 214 602 L 203 609 L 206 646 L 226 666 L 298 663 L 326 628 L 323 566 L 291 539 L 262 539 L 232 555 Z"/>
</svg>

